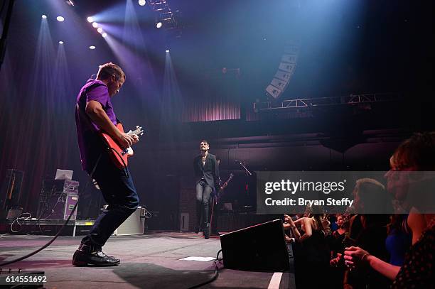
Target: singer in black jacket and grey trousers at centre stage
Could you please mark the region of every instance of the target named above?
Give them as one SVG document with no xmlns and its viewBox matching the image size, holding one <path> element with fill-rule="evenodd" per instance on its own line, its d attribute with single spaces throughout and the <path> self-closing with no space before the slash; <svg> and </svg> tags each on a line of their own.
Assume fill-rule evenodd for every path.
<svg viewBox="0 0 435 289">
<path fill-rule="evenodd" d="M 210 195 L 215 185 L 220 184 L 219 165 L 216 156 L 208 153 L 208 141 L 200 142 L 200 155 L 193 160 L 196 181 L 196 217 L 198 225 L 195 231 L 204 231 L 205 239 L 210 236 L 210 223 L 208 222 L 208 209 Z"/>
</svg>

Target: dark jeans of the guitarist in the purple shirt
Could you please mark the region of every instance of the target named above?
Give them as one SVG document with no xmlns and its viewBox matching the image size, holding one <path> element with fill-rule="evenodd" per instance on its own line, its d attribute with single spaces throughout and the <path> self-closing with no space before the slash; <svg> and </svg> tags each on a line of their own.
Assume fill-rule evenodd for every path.
<svg viewBox="0 0 435 289">
<path fill-rule="evenodd" d="M 100 186 L 108 206 L 98 216 L 87 236 L 82 239 L 82 244 L 102 247 L 114 230 L 136 211 L 139 197 L 128 168 L 116 168 L 106 152 L 102 153 L 92 178 Z"/>
</svg>

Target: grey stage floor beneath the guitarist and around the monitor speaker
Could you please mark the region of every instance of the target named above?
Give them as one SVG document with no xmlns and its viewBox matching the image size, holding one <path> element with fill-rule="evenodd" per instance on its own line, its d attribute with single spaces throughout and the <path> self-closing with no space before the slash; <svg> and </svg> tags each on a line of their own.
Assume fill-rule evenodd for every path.
<svg viewBox="0 0 435 289">
<path fill-rule="evenodd" d="M 24 256 L 52 236 L 0 235 L 0 262 Z M 60 236 L 35 256 L 1 268 L 45 271 L 45 288 L 189 288 L 214 275 L 213 261 L 185 261 L 186 257 L 216 257 L 218 237 L 200 234 L 150 232 L 112 236 L 104 246 L 109 256 L 121 259 L 116 267 L 74 267 L 71 258 L 81 236 Z M 222 255 L 221 255 L 222 256 Z M 220 264 L 219 277 L 201 288 L 295 288 L 294 274 L 235 271 Z"/>
</svg>

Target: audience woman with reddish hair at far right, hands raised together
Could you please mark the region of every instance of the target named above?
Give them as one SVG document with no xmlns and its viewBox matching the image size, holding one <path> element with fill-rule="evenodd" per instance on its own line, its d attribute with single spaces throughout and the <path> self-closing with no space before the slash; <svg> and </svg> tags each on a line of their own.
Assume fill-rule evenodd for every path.
<svg viewBox="0 0 435 289">
<path fill-rule="evenodd" d="M 435 133 L 415 133 L 397 148 L 390 164 L 391 170 L 386 174 L 387 187 L 397 200 L 406 200 L 407 194 L 412 193 L 407 190 L 409 180 L 398 172 L 435 170 Z M 359 246 L 346 249 L 345 262 L 350 268 L 368 264 L 394 280 L 392 288 L 434 288 L 435 214 L 421 214 L 415 204 L 405 205 L 410 207 L 407 224 L 412 231 L 412 246 L 404 257 L 403 266 L 382 261 L 369 249 Z"/>
</svg>

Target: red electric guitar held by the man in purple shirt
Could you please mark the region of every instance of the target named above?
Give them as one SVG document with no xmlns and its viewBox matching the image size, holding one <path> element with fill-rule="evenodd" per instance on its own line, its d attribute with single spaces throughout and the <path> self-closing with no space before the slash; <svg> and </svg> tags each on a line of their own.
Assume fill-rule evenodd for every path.
<svg viewBox="0 0 435 289">
<path fill-rule="evenodd" d="M 119 129 L 119 131 L 124 133 L 124 127 L 122 126 L 121 123 L 117 124 L 117 129 Z M 107 148 L 109 148 L 109 155 L 110 158 L 112 158 L 114 165 L 116 165 L 117 168 L 127 168 L 127 163 L 128 163 L 127 158 L 133 156 L 134 153 L 131 146 L 129 148 L 122 149 L 117 144 L 117 142 L 114 141 L 113 138 L 109 136 L 107 133 L 102 132 L 100 134 L 104 143 L 106 143 Z M 130 130 L 127 134 L 129 136 L 132 136 L 134 134 L 136 134 L 136 136 L 141 136 L 144 134 L 144 130 L 142 129 L 141 126 L 136 126 L 136 129 L 134 131 Z"/>
</svg>

